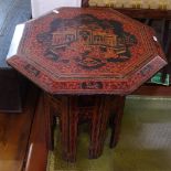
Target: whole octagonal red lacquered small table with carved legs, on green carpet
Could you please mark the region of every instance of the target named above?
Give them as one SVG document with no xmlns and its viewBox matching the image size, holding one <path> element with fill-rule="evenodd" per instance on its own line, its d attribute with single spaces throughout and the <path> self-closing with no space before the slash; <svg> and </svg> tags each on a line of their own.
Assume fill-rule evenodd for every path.
<svg viewBox="0 0 171 171">
<path fill-rule="evenodd" d="M 82 121 L 90 126 L 89 158 L 100 156 L 113 111 L 114 147 L 125 96 L 167 64 L 151 28 L 101 8 L 61 8 L 18 25 L 9 56 L 11 66 L 46 92 L 47 147 L 53 108 L 67 161 L 76 159 Z"/>
</svg>

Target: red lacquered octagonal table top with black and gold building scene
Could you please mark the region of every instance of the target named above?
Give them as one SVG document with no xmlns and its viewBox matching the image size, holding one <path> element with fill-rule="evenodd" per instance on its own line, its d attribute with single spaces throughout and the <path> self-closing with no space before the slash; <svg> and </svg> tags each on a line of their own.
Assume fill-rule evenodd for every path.
<svg viewBox="0 0 171 171">
<path fill-rule="evenodd" d="M 167 64 L 151 28 L 101 8 L 18 25 L 8 63 L 52 94 L 129 94 Z"/>
</svg>

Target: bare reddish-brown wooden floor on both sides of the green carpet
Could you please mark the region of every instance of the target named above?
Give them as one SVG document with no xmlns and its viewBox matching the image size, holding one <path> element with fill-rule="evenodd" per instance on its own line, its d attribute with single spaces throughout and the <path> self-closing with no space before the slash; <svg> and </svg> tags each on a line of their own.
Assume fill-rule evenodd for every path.
<svg viewBox="0 0 171 171">
<path fill-rule="evenodd" d="M 141 95 L 169 95 L 171 87 L 141 87 Z M 45 171 L 43 100 L 33 85 L 25 96 L 22 114 L 0 113 L 0 171 Z"/>
</svg>

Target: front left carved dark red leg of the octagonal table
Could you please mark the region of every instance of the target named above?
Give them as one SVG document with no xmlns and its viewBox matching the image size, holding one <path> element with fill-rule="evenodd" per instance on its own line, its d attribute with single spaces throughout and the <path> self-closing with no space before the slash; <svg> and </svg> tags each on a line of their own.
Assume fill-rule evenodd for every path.
<svg viewBox="0 0 171 171">
<path fill-rule="evenodd" d="M 63 107 L 61 114 L 61 137 L 62 137 L 62 156 L 70 162 L 76 160 L 76 139 L 78 114 L 76 97 L 63 97 Z"/>
</svg>

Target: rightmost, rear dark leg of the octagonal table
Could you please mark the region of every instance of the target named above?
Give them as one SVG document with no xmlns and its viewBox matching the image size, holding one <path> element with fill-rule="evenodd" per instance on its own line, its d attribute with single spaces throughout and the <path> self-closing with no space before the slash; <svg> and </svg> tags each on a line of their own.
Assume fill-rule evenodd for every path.
<svg viewBox="0 0 171 171">
<path fill-rule="evenodd" d="M 110 148 L 114 148 L 119 140 L 121 118 L 122 118 L 124 106 L 125 106 L 125 96 L 117 96 L 115 103 L 116 103 L 116 106 L 114 108 L 115 116 L 113 118 L 113 124 L 111 124 L 113 129 L 111 129 L 111 138 L 110 138 Z"/>
</svg>

